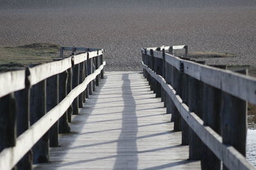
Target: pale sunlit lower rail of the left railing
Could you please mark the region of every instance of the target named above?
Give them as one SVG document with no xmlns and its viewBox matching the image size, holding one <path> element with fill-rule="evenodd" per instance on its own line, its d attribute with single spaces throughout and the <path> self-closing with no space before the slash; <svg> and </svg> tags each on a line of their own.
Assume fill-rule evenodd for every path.
<svg viewBox="0 0 256 170">
<path fill-rule="evenodd" d="M 52 125 L 58 119 L 62 117 L 69 106 L 72 104 L 74 99 L 79 96 L 87 87 L 88 83 L 96 78 L 100 74 L 106 62 L 103 62 L 92 74 L 87 76 L 83 83 L 75 87 L 71 92 L 68 93 L 67 97 L 63 99 L 57 106 L 47 112 L 44 117 L 40 118 L 35 124 L 33 124 L 27 131 L 21 134 L 17 138 L 17 144 L 10 148 L 5 148 L 0 153 L 0 169 L 7 170 L 12 169 L 17 162 L 32 148 L 35 143 L 44 136 Z"/>
</svg>

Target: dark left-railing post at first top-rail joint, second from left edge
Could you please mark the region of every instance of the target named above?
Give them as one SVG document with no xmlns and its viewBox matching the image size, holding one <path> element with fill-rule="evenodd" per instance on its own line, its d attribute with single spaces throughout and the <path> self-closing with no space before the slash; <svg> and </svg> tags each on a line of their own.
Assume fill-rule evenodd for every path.
<svg viewBox="0 0 256 170">
<path fill-rule="evenodd" d="M 30 72 L 28 67 L 26 68 L 26 88 L 15 92 L 16 101 L 16 115 L 17 115 L 17 136 L 20 136 L 29 128 L 29 104 L 30 104 Z M 19 170 L 31 170 L 32 169 L 32 152 L 29 150 L 26 155 L 17 164 Z"/>
</svg>

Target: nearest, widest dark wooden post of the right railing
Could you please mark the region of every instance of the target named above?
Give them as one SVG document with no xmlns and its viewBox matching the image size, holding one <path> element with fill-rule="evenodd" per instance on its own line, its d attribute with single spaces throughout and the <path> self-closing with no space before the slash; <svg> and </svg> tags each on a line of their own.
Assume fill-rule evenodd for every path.
<svg viewBox="0 0 256 170">
<path fill-rule="evenodd" d="M 237 70 L 236 72 L 248 74 L 247 69 Z M 222 92 L 222 95 L 222 143 L 234 146 L 238 152 L 246 157 L 247 102 L 226 92 Z M 227 169 L 227 167 L 223 165 L 223 169 Z"/>
</svg>

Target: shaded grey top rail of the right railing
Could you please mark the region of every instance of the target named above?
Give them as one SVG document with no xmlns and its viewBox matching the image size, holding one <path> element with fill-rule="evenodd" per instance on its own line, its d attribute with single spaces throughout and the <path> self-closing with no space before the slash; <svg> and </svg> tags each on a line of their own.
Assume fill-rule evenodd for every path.
<svg viewBox="0 0 256 170">
<path fill-rule="evenodd" d="M 145 54 L 145 50 L 141 50 Z M 150 55 L 150 51 L 147 50 Z M 243 74 L 234 73 L 233 71 L 223 70 L 216 67 L 205 66 L 189 60 L 165 53 L 165 61 L 180 70 L 180 66 L 184 67 L 184 73 L 203 81 L 212 87 L 227 92 L 244 101 L 256 104 L 256 79 Z M 163 59 L 163 52 L 154 51 L 154 57 Z"/>
</svg>

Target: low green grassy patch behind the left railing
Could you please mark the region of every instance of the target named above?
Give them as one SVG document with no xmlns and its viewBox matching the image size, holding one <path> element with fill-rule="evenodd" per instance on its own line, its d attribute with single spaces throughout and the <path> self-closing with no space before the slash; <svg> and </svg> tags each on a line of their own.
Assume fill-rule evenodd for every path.
<svg viewBox="0 0 256 170">
<path fill-rule="evenodd" d="M 59 49 L 59 45 L 51 43 L 0 46 L 0 71 L 52 61 L 53 58 L 58 57 Z"/>
</svg>

